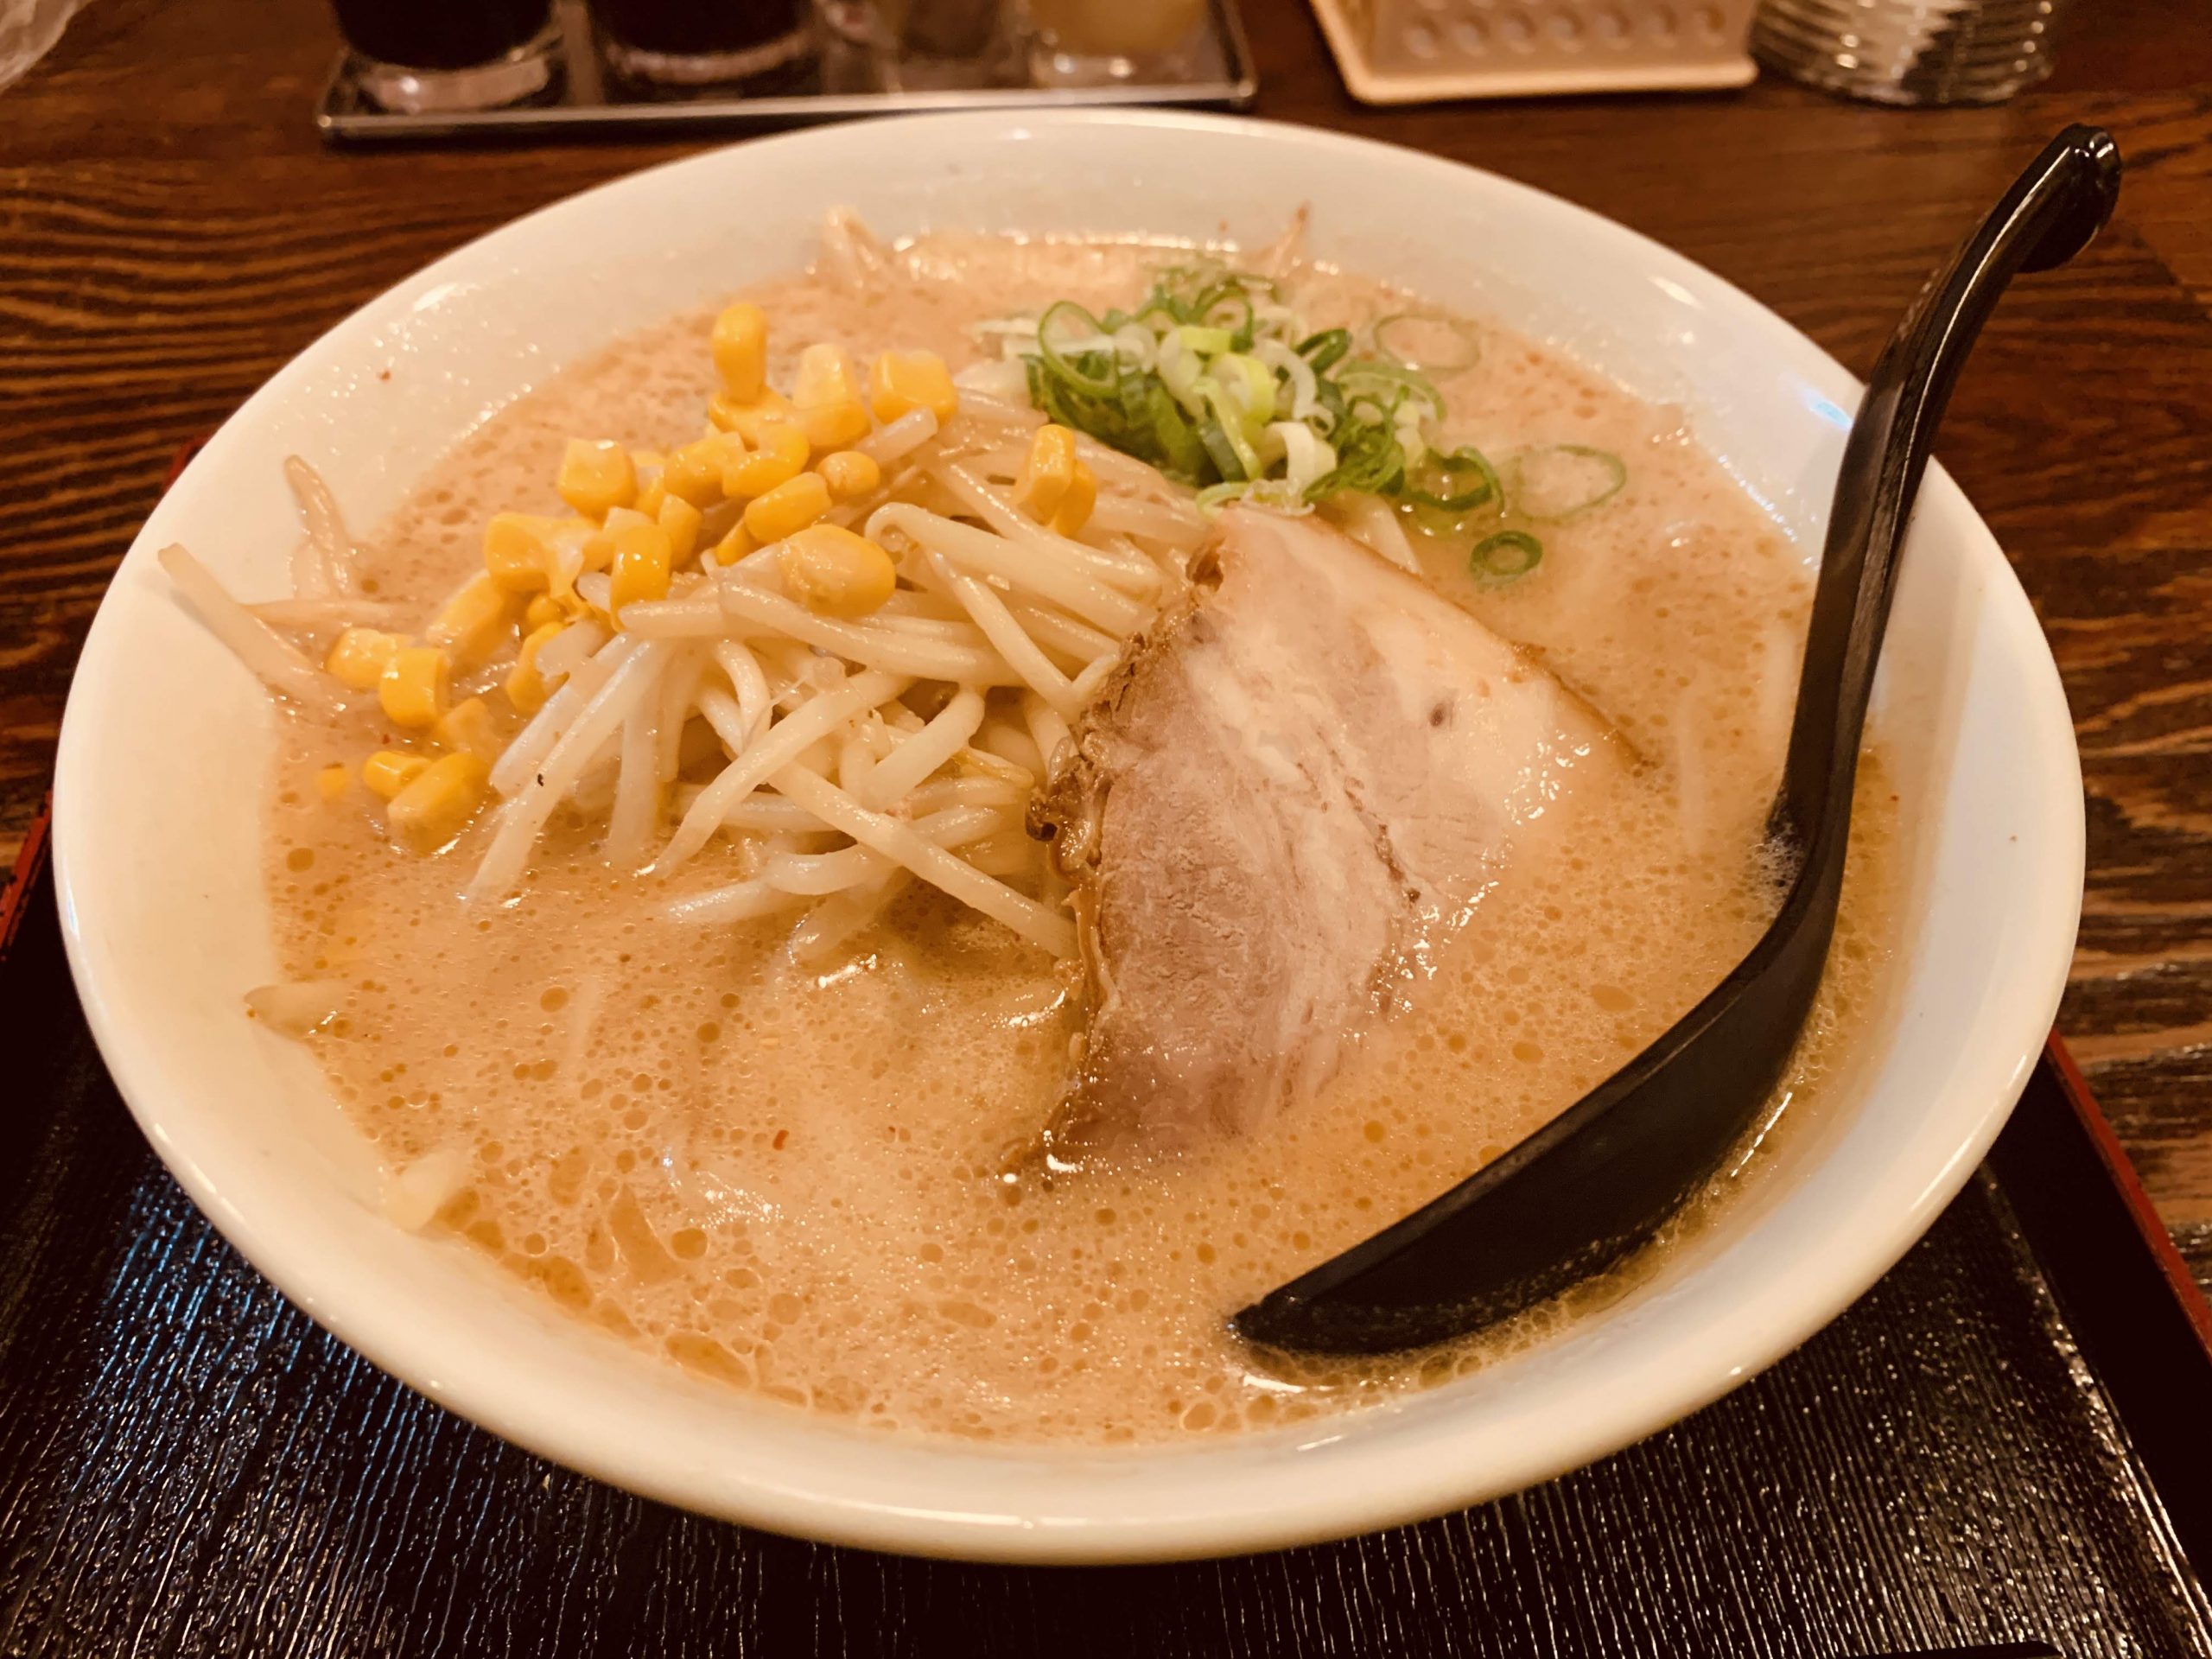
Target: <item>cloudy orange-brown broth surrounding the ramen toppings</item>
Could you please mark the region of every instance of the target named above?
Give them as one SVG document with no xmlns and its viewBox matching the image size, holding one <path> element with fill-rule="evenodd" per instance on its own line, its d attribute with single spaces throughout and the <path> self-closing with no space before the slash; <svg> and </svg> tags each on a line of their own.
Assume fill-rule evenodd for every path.
<svg viewBox="0 0 2212 1659">
<path fill-rule="evenodd" d="M 1126 303 L 1164 257 L 945 237 L 905 250 L 891 281 L 799 276 L 750 296 L 781 385 L 810 341 L 860 361 L 927 347 L 958 367 L 980 352 L 978 321 Z M 1305 316 L 1356 334 L 1409 310 L 1332 270 L 1290 288 Z M 469 436 L 372 538 L 374 593 L 422 608 L 451 593 L 480 568 L 493 513 L 546 511 L 573 436 L 692 438 L 714 392 L 712 316 L 630 336 Z M 573 810 L 509 902 L 462 902 L 489 825 L 436 856 L 396 847 L 358 779 L 396 737 L 378 706 L 296 712 L 270 852 L 285 971 L 345 987 L 310 1042 L 392 1168 L 451 1172 L 431 1225 L 672 1363 L 902 1431 L 1256 1429 L 1493 1354 L 1495 1338 L 1285 1369 L 1223 1321 L 1500 1157 L 1741 960 L 1774 902 L 1756 845 L 1809 584 L 1679 411 L 1480 319 L 1444 336 L 1431 378 L 1453 442 L 1577 445 L 1619 456 L 1626 482 L 1548 524 L 1542 564 L 1504 584 L 1469 573 L 1464 540 L 1409 522 L 1422 573 L 1599 710 L 1632 765 L 1571 838 L 1504 865 L 1318 1097 L 1248 1137 L 1040 1181 L 1024 1155 L 1082 1033 L 1064 962 L 922 885 L 834 960 L 796 962 L 787 916 L 664 914 L 748 874 L 732 845 L 639 878 Z M 336 763 L 354 768 L 343 790 L 325 787 Z M 1880 998 L 1893 801 L 1871 759 L 1860 801 L 1785 1135 L 1820 1110 Z"/>
</svg>

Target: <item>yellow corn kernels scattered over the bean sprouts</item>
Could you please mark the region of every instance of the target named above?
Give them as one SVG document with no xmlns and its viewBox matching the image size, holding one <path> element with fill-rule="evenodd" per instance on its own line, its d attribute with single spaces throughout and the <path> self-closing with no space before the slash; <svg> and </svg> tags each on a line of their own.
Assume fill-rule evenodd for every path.
<svg viewBox="0 0 2212 1659">
<path fill-rule="evenodd" d="M 854 449 L 876 422 L 929 409 L 942 427 L 958 411 L 951 372 L 933 352 L 885 352 L 863 385 L 838 345 L 799 354 L 790 396 L 768 385 L 768 316 L 737 303 L 714 319 L 708 429 L 670 453 L 573 438 L 555 489 L 573 518 L 495 513 L 484 526 L 484 568 L 438 613 L 422 644 L 376 628 L 347 628 L 325 668 L 376 699 L 396 728 L 442 754 L 378 750 L 361 765 L 363 785 L 385 801 L 392 832 L 418 852 L 442 847 L 482 805 L 500 719 L 484 697 L 449 703 L 456 670 L 484 664 L 520 624 L 520 648 L 500 686 L 515 714 L 544 706 L 538 655 L 562 628 L 593 619 L 622 626 L 630 604 L 668 595 L 675 571 L 701 551 L 708 520 L 728 520 L 708 557 L 717 564 L 776 546 L 785 591 L 810 611 L 865 617 L 891 597 L 898 571 L 876 542 L 825 522 L 836 502 L 874 493 L 878 462 Z M 1082 529 L 1097 478 L 1075 456 L 1066 427 L 1035 434 L 1018 500 L 1064 535 Z M 734 515 L 732 515 L 734 509 Z M 606 608 L 577 577 L 606 571 Z M 323 772 L 332 799 L 347 768 Z"/>
</svg>

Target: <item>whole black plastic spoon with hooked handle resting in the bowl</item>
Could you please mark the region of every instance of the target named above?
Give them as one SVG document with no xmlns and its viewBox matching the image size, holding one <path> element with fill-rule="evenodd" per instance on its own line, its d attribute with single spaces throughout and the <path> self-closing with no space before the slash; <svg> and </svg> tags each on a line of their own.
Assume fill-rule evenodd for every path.
<svg viewBox="0 0 2212 1659">
<path fill-rule="evenodd" d="M 1659 1042 L 1502 1159 L 1245 1307 L 1232 1321 L 1239 1336 L 1380 1354 L 1478 1329 L 1619 1261 L 1736 1146 L 1783 1075 L 1827 962 L 1867 695 L 1936 422 L 2013 274 L 2064 265 L 2117 199 L 2112 137 L 2066 128 L 1922 290 L 1874 365 L 1836 478 L 1767 821 L 1794 874 L 1752 953 Z"/>
</svg>

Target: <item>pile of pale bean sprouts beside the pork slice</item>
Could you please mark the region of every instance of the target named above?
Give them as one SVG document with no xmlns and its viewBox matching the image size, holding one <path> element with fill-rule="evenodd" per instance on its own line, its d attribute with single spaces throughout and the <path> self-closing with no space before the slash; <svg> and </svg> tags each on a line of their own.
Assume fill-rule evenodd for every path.
<svg viewBox="0 0 2212 1659">
<path fill-rule="evenodd" d="M 730 566 L 701 555 L 666 599 L 619 619 L 604 615 L 606 575 L 580 577 L 595 613 L 538 655 L 557 690 L 491 761 L 495 803 L 447 849 L 476 860 L 462 900 L 498 907 L 524 889 L 566 807 L 639 880 L 714 847 L 732 880 L 686 885 L 664 914 L 785 918 L 803 962 L 836 953 L 914 883 L 1073 956 L 1066 894 L 1026 834 L 1029 799 L 1126 641 L 1181 588 L 1206 522 L 1188 489 L 1088 438 L 1088 522 L 1077 535 L 1033 522 L 1013 480 L 1042 420 L 967 389 L 945 429 L 916 409 L 856 445 L 883 484 L 832 518 L 898 568 L 867 617 L 801 604 L 776 544 Z M 392 626 L 394 606 L 363 597 L 358 549 L 314 471 L 294 458 L 285 473 L 307 526 L 290 599 L 239 604 L 181 546 L 161 564 L 270 690 L 332 710 L 349 692 L 303 639 Z M 500 672 L 489 664 L 482 684 Z"/>
</svg>

